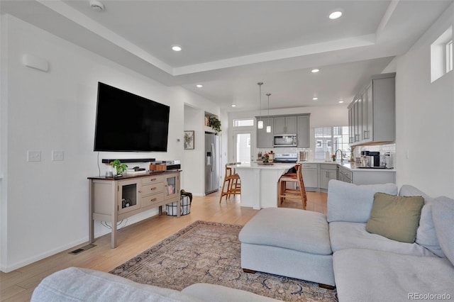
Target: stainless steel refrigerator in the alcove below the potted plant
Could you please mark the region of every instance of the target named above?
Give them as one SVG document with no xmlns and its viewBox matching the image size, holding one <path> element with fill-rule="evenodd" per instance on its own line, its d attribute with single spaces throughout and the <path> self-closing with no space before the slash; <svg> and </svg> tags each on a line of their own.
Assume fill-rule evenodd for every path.
<svg viewBox="0 0 454 302">
<path fill-rule="evenodd" d="M 205 133 L 205 194 L 219 189 L 219 137 Z"/>
</svg>

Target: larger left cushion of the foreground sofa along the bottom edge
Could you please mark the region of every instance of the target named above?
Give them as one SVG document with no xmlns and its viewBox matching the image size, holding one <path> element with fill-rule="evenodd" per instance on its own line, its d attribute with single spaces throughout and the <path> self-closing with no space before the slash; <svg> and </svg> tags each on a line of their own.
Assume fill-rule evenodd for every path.
<svg viewBox="0 0 454 302">
<path fill-rule="evenodd" d="M 172 289 L 138 284 L 106 272 L 70 267 L 45 277 L 33 291 L 38 301 L 201 301 Z"/>
</svg>

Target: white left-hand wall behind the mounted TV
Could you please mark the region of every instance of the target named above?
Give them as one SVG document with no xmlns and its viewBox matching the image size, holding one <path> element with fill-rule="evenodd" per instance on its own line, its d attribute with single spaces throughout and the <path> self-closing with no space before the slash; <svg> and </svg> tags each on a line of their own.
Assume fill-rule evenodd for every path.
<svg viewBox="0 0 454 302">
<path fill-rule="evenodd" d="M 0 257 L 1 270 L 9 272 L 87 242 L 87 177 L 99 174 L 98 164 L 104 174 L 102 158 L 183 159 L 184 104 L 219 109 L 13 16 L 1 16 L 1 25 Z M 25 67 L 23 54 L 47 60 L 50 70 Z M 170 106 L 167 152 L 101 152 L 98 160 L 93 152 L 98 81 Z M 40 150 L 41 162 L 27 162 L 27 150 Z M 65 160 L 52 162 L 52 150 L 63 150 Z M 183 171 L 183 182 L 186 173 L 192 172 Z M 154 213 L 128 218 L 128 224 Z M 105 233 L 109 230 L 96 222 L 95 235 Z"/>
</svg>

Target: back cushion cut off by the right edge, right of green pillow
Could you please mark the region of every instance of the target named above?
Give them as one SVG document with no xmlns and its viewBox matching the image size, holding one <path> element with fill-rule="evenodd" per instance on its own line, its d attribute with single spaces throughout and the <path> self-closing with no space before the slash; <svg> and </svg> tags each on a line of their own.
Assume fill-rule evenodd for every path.
<svg viewBox="0 0 454 302">
<path fill-rule="evenodd" d="M 454 200 L 445 196 L 436 198 L 432 216 L 441 249 L 454 264 Z"/>
</svg>

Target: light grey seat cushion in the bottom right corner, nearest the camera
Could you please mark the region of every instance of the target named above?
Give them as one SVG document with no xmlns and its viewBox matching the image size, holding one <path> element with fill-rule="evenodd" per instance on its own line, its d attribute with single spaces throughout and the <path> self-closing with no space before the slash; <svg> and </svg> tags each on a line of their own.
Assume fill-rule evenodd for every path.
<svg viewBox="0 0 454 302">
<path fill-rule="evenodd" d="M 428 301 L 454 297 L 454 267 L 446 258 L 341 250 L 333 255 L 333 269 L 339 301 Z M 421 298 L 428 294 L 445 298 Z"/>
</svg>

